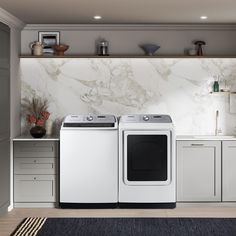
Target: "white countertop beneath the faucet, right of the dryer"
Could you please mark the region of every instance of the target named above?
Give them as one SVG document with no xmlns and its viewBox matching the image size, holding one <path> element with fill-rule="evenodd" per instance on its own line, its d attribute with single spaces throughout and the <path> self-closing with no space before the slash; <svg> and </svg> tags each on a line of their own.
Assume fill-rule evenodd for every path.
<svg viewBox="0 0 236 236">
<path fill-rule="evenodd" d="M 219 140 L 219 141 L 236 141 L 234 135 L 177 135 L 176 140 Z"/>
</svg>

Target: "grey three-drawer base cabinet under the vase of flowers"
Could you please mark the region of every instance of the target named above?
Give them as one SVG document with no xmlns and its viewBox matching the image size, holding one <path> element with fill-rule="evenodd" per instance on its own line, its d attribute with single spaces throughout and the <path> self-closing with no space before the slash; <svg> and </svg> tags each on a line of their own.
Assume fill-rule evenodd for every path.
<svg viewBox="0 0 236 236">
<path fill-rule="evenodd" d="M 15 206 L 55 203 L 58 142 L 14 141 Z"/>
</svg>

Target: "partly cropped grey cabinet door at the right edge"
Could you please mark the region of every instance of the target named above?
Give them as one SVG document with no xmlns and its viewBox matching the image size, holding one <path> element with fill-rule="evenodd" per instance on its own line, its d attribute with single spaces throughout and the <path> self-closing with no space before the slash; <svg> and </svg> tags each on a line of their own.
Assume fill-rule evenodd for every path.
<svg viewBox="0 0 236 236">
<path fill-rule="evenodd" d="M 222 201 L 236 201 L 236 141 L 223 141 Z"/>
</svg>

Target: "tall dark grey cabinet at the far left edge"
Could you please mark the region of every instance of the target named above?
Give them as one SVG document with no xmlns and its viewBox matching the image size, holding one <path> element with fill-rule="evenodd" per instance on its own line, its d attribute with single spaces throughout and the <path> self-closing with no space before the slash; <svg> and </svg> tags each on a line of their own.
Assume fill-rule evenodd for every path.
<svg viewBox="0 0 236 236">
<path fill-rule="evenodd" d="M 10 202 L 10 29 L 0 23 L 0 211 Z"/>
</svg>

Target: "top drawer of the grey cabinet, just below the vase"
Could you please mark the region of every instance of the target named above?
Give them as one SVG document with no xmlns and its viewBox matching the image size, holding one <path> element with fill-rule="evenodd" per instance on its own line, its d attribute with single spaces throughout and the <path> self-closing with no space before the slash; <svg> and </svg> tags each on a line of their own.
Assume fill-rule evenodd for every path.
<svg viewBox="0 0 236 236">
<path fill-rule="evenodd" d="M 56 142 L 48 141 L 15 142 L 14 157 L 56 157 L 57 147 Z"/>
</svg>

